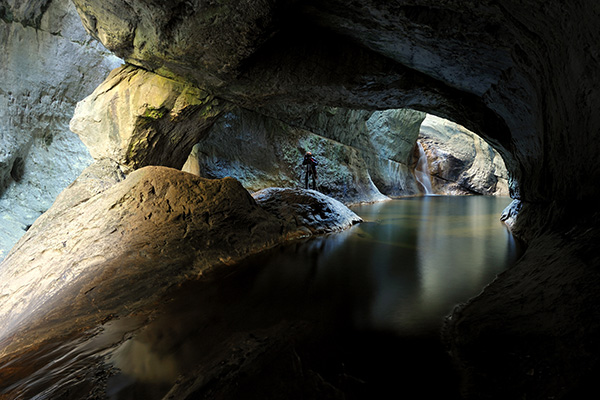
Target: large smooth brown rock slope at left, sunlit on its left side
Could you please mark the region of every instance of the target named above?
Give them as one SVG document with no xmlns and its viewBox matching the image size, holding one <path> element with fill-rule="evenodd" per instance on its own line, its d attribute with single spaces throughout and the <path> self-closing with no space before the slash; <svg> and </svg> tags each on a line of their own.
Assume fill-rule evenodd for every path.
<svg viewBox="0 0 600 400">
<path fill-rule="evenodd" d="M 86 171 L 0 264 L 0 340 L 17 334 L 1 355 L 134 311 L 285 234 L 234 179 L 146 167 L 121 181 L 113 162 Z"/>
</svg>

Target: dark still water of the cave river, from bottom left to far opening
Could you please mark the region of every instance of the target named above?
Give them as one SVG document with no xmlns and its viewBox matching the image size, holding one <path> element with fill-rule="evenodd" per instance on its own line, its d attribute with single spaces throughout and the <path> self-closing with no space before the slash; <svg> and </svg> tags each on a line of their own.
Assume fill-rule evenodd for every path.
<svg viewBox="0 0 600 400">
<path fill-rule="evenodd" d="M 275 398 L 261 392 L 277 386 L 274 381 L 282 387 L 271 391 L 280 398 L 296 398 L 286 390 L 311 398 L 286 387 L 292 365 L 349 399 L 407 393 L 414 397 L 402 398 L 458 399 L 459 378 L 440 329 L 456 304 L 476 296 L 519 256 L 499 219 L 510 201 L 426 196 L 353 207 L 365 222 L 254 256 L 236 273 L 183 285 L 152 318 L 115 319 L 99 335 L 56 345 L 36 372 L 9 376 L 11 385 L 0 394 L 51 399 L 67 385 L 85 391 L 93 378 L 88 385 L 75 383 L 77 376 L 90 375 L 82 371 L 105 356 L 108 398 L 162 399 L 175 382 L 189 392 L 190 371 L 208 376 L 223 365 L 239 368 L 274 349 L 297 360 L 270 362 L 276 372 L 269 378 L 244 372 L 250 376 L 243 392 L 228 387 L 229 398 Z"/>
</svg>

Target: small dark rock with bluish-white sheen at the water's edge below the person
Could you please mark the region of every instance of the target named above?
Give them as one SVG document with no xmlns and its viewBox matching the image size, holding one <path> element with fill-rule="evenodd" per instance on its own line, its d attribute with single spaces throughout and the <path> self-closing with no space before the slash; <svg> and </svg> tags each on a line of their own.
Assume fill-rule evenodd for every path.
<svg viewBox="0 0 600 400">
<path fill-rule="evenodd" d="M 284 221 L 292 236 L 335 232 L 362 222 L 348 207 L 315 190 L 267 188 L 252 197 Z"/>
</svg>

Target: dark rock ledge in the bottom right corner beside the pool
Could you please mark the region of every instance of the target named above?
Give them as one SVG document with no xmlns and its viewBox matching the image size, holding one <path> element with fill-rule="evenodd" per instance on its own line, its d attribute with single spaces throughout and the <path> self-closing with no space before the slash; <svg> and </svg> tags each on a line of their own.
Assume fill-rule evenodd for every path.
<svg viewBox="0 0 600 400">
<path fill-rule="evenodd" d="M 464 399 L 577 399 L 593 390 L 599 239 L 597 227 L 538 236 L 514 267 L 454 310 L 444 335 L 461 362 Z"/>
</svg>

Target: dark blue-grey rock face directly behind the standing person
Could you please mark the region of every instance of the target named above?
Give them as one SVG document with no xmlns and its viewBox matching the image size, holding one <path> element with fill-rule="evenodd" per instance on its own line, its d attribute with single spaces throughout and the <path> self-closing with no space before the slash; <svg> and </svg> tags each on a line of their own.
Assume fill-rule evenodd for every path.
<svg viewBox="0 0 600 400">
<path fill-rule="evenodd" d="M 184 170 L 209 178 L 232 176 L 250 191 L 304 187 L 304 153 L 317 158 L 317 186 L 344 203 L 382 195 L 360 150 L 243 109 L 229 112 L 192 151 Z M 312 184 L 312 181 L 310 182 Z"/>
</svg>

